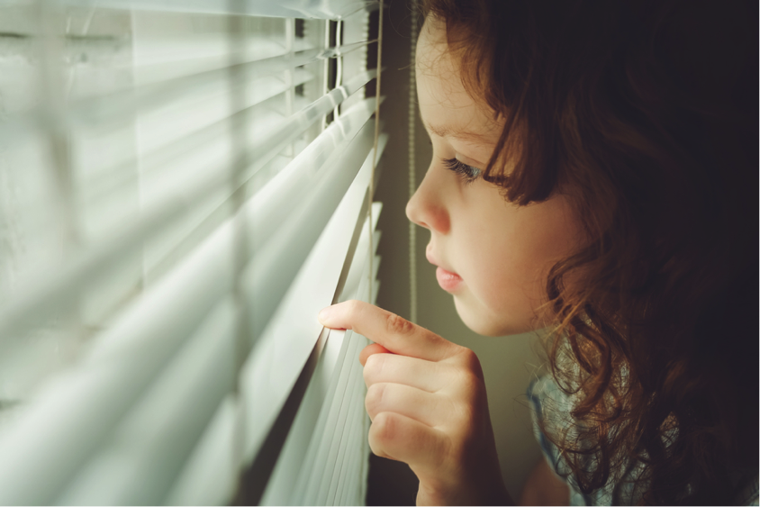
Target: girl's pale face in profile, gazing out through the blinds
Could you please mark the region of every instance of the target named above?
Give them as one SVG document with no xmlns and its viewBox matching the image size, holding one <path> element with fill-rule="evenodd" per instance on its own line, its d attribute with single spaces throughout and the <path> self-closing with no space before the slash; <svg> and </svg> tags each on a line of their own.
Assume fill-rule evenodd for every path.
<svg viewBox="0 0 760 507">
<path fill-rule="evenodd" d="M 430 229 L 427 257 L 439 266 L 439 284 L 475 332 L 533 330 L 549 268 L 577 246 L 580 227 L 570 206 L 555 195 L 518 207 L 482 178 L 466 181 L 486 167 L 502 123 L 467 94 L 445 27 L 430 18 L 417 44 L 417 95 L 433 159 L 406 214 Z"/>
</svg>

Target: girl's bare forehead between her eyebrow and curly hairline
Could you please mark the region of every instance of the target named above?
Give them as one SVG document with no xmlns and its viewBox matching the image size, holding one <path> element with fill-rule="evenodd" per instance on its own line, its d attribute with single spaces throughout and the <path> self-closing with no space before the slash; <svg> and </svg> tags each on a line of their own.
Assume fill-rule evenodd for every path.
<svg viewBox="0 0 760 507">
<path fill-rule="evenodd" d="M 498 139 L 500 123 L 490 107 L 467 92 L 459 60 L 448 50 L 446 27 L 439 20 L 428 17 L 422 26 L 417 41 L 416 73 L 422 120 L 433 127 L 432 131 L 493 134 Z"/>
</svg>

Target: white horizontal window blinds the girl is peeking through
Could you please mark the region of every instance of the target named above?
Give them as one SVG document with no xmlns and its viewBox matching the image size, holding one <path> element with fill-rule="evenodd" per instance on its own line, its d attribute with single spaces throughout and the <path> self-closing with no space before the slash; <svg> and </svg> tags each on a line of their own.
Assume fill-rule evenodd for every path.
<svg viewBox="0 0 760 507">
<path fill-rule="evenodd" d="M 0 506 L 364 503 L 378 7 L 0 1 Z"/>
</svg>

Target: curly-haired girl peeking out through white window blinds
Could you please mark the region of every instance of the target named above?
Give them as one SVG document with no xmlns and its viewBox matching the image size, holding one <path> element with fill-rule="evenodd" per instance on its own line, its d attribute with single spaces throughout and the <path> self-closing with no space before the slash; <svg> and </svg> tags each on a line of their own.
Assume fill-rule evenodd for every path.
<svg viewBox="0 0 760 507">
<path fill-rule="evenodd" d="M 407 215 L 467 326 L 551 331 L 520 504 L 760 504 L 757 5 L 423 14 L 433 160 Z M 366 303 L 320 320 L 375 341 L 369 443 L 418 505 L 515 504 L 473 352 Z"/>
</svg>

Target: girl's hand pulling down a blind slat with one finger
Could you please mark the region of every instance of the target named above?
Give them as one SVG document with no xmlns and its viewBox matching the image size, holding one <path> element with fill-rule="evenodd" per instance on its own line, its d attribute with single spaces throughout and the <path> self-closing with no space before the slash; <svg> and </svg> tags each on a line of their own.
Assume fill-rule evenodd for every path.
<svg viewBox="0 0 760 507">
<path fill-rule="evenodd" d="M 372 420 L 369 447 L 407 463 L 420 479 L 418 507 L 511 506 L 502 483 L 475 353 L 369 303 L 320 312 L 322 325 L 375 343 L 359 355 Z"/>
</svg>

